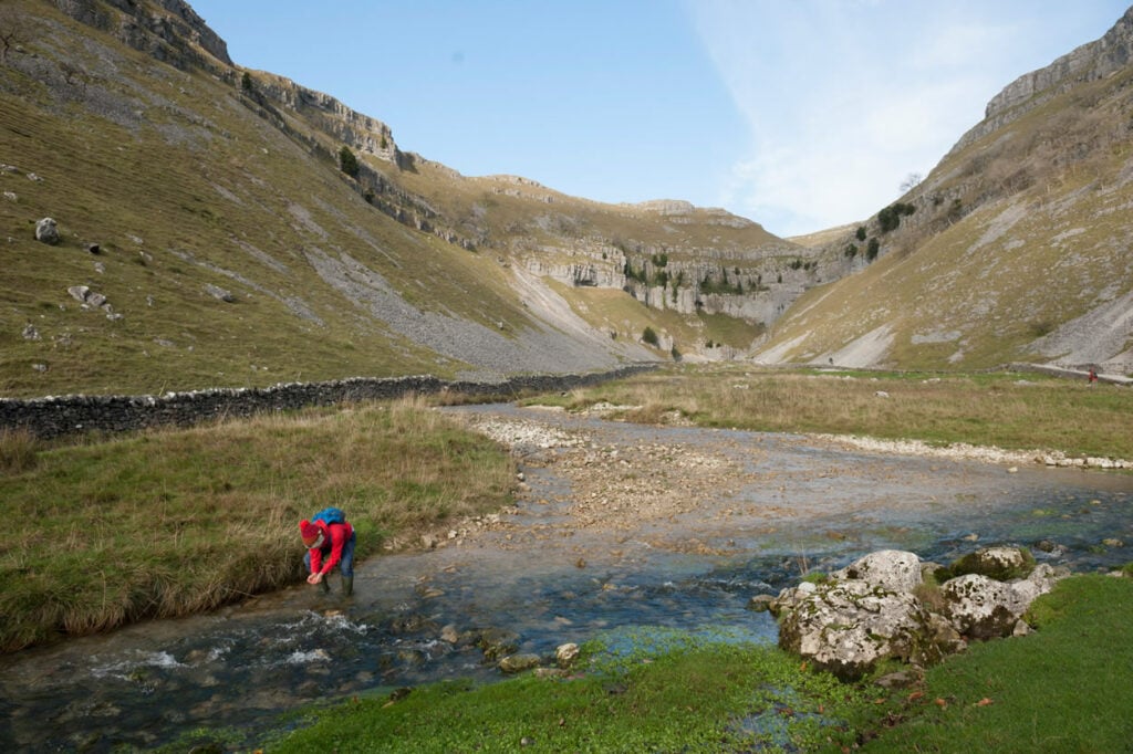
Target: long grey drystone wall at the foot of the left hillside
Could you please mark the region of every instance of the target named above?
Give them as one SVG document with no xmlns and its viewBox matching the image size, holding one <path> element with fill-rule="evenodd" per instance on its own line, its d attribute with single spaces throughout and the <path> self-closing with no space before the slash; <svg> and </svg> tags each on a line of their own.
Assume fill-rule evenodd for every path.
<svg viewBox="0 0 1133 754">
<path fill-rule="evenodd" d="M 26 429 L 51 439 L 80 432 L 125 432 L 148 427 L 188 427 L 215 419 L 291 411 L 310 405 L 383 401 L 441 392 L 517 395 L 568 391 L 628 377 L 656 365 L 629 365 L 581 375 L 525 375 L 495 383 L 445 382 L 432 376 L 287 383 L 271 387 L 214 388 L 164 395 L 65 395 L 0 399 L 0 429 Z"/>
</svg>

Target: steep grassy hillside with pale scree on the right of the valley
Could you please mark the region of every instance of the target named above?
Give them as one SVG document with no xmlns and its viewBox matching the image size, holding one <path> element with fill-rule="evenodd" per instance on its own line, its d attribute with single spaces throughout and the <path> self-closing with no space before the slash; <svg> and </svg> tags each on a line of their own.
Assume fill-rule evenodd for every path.
<svg viewBox="0 0 1133 754">
<path fill-rule="evenodd" d="M 1133 371 L 1131 84 L 1125 66 L 998 115 L 894 205 L 910 209 L 897 228 L 874 217 L 825 247 L 855 274 L 808 291 L 757 358 Z"/>
</svg>

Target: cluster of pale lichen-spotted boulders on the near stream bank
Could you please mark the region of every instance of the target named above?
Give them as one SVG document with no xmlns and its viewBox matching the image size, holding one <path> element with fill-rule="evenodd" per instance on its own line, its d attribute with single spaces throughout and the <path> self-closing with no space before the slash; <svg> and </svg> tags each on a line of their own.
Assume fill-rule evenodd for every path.
<svg viewBox="0 0 1133 754">
<path fill-rule="evenodd" d="M 977 559 L 1010 568 L 1024 567 L 1028 556 L 988 548 Z M 821 583 L 783 590 L 769 603 L 780 646 L 850 679 L 887 659 L 929 665 L 971 640 L 1025 632 L 1021 619 L 1031 602 L 1066 575 L 1047 565 L 1006 582 L 969 573 L 935 590 L 923 581 L 926 569 L 935 567 L 913 552 L 883 550 Z"/>
</svg>

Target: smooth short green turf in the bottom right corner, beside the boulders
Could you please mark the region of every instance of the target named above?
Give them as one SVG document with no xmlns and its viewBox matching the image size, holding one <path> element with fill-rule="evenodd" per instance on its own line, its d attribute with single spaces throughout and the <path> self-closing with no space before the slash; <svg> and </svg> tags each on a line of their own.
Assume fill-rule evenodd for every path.
<svg viewBox="0 0 1133 754">
<path fill-rule="evenodd" d="M 862 726 L 877 734 L 863 751 L 1128 751 L 1133 581 L 1075 576 L 1031 614 L 1030 636 L 974 644 L 888 696 Z"/>
</svg>

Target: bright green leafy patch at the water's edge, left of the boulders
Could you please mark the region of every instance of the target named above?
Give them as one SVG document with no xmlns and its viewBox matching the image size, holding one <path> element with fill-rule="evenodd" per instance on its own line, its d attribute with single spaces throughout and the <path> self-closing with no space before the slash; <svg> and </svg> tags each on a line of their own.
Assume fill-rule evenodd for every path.
<svg viewBox="0 0 1133 754">
<path fill-rule="evenodd" d="M 860 692 L 767 646 L 708 645 L 603 667 L 590 645 L 565 678 L 448 682 L 312 713 L 272 752 L 729 752 L 852 744 Z M 774 751 L 774 749 L 773 749 Z M 799 751 L 798 748 L 795 751 Z"/>
</svg>

